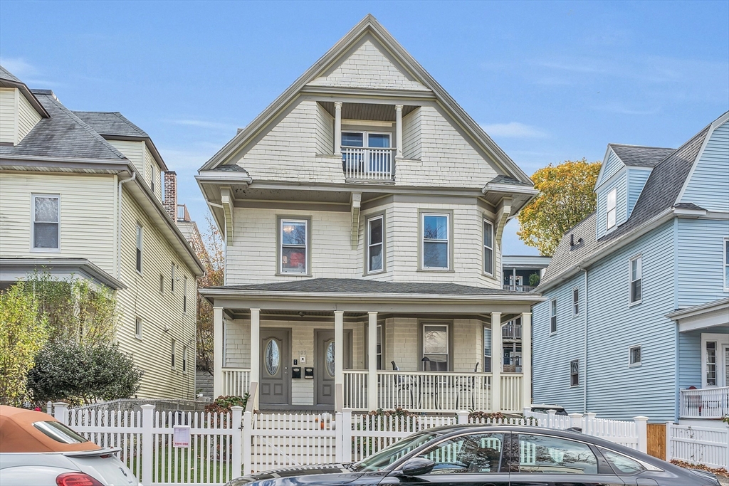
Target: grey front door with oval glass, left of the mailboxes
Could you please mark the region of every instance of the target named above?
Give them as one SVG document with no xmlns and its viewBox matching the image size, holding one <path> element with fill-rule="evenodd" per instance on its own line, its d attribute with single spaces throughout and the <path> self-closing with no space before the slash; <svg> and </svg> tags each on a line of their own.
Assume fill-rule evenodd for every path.
<svg viewBox="0 0 729 486">
<path fill-rule="evenodd" d="M 291 377 L 289 376 L 289 331 L 266 329 L 261 333 L 261 389 L 260 403 L 288 404 Z"/>
</svg>

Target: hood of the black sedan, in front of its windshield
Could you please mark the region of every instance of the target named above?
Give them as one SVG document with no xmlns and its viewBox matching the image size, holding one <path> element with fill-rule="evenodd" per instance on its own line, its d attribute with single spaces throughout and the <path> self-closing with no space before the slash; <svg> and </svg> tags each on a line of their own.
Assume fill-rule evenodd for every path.
<svg viewBox="0 0 729 486">
<path fill-rule="evenodd" d="M 252 482 L 264 482 L 265 485 L 342 485 L 352 482 L 365 474 L 362 471 L 353 472 L 348 464 L 316 464 L 313 466 L 298 466 L 286 469 L 274 469 L 258 474 L 232 479 L 227 486 L 249 485 Z M 381 475 L 381 473 L 380 473 Z"/>
</svg>

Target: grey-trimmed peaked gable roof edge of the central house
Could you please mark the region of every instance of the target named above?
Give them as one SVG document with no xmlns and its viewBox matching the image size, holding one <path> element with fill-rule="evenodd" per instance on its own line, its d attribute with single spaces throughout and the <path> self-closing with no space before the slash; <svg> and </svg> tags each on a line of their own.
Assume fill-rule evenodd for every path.
<svg viewBox="0 0 729 486">
<path fill-rule="evenodd" d="M 445 111 L 456 120 L 461 128 L 466 131 L 469 136 L 477 145 L 480 145 L 484 152 L 491 155 L 493 158 L 492 162 L 500 169 L 500 171 L 506 173 L 510 178 L 521 181 L 524 184 L 528 184 L 530 187 L 533 186 L 529 176 L 524 173 L 518 165 L 513 162 L 510 157 L 504 153 L 504 151 L 491 140 L 483 128 L 459 106 L 456 101 L 451 98 L 443 87 L 441 87 L 433 77 L 421 66 L 413 56 L 402 47 L 402 45 L 394 39 L 386 29 L 373 17 L 373 15 L 367 15 L 362 19 L 354 28 L 351 29 L 342 39 L 337 42 L 324 56 L 322 56 L 316 63 L 308 68 L 294 84 L 292 84 L 284 93 L 276 98 L 268 108 L 266 108 L 258 117 L 256 117 L 245 129 L 238 132 L 222 149 L 217 152 L 208 162 L 200 168 L 200 171 L 210 171 L 217 166 L 224 163 L 233 154 L 243 149 L 246 144 L 251 142 L 270 122 L 276 118 L 276 116 L 289 106 L 292 101 L 297 98 L 301 90 L 306 85 L 311 84 L 315 79 L 326 73 L 333 64 L 341 60 L 341 57 L 354 46 L 362 36 L 367 34 L 372 35 L 383 47 L 388 50 L 389 55 L 397 60 L 397 62 L 413 76 L 418 82 L 424 85 L 428 90 L 434 93 L 436 100 L 443 106 Z M 366 90 L 366 88 L 362 88 Z M 413 90 L 413 93 L 424 93 L 423 90 Z"/>
</svg>

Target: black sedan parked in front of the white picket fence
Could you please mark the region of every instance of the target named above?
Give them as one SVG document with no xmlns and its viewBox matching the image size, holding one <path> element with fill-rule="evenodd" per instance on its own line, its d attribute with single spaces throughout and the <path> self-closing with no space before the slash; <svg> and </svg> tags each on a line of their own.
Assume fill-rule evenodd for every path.
<svg viewBox="0 0 729 486">
<path fill-rule="evenodd" d="M 704 471 L 577 431 L 519 426 L 430 428 L 358 463 L 278 469 L 228 486 L 717 486 Z"/>
</svg>

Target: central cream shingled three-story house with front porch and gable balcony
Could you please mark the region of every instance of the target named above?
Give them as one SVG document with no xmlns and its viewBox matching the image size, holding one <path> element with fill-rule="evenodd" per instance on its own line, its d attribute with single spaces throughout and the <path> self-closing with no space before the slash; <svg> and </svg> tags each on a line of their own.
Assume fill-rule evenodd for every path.
<svg viewBox="0 0 729 486">
<path fill-rule="evenodd" d="M 531 403 L 541 297 L 502 289 L 501 239 L 536 191 L 373 17 L 197 179 L 227 241 L 225 286 L 201 290 L 216 395 L 249 391 L 265 409 Z M 517 319 L 507 371 L 502 326 Z"/>
</svg>

